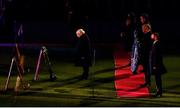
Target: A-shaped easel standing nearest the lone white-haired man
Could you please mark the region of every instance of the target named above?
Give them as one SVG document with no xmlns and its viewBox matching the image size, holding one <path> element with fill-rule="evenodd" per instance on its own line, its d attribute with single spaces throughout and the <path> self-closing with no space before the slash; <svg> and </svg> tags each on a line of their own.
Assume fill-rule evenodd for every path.
<svg viewBox="0 0 180 108">
<path fill-rule="evenodd" d="M 46 49 L 45 46 L 43 46 L 41 48 L 41 50 L 40 50 L 39 58 L 38 58 L 37 66 L 36 66 L 36 72 L 35 72 L 33 80 L 34 81 L 39 80 L 39 66 L 40 66 L 40 62 L 41 62 L 41 59 L 42 59 L 42 55 L 43 55 L 43 58 L 45 60 L 45 63 L 48 66 L 48 71 L 49 71 L 49 74 L 50 74 L 50 80 L 54 81 L 57 77 L 56 77 L 55 73 L 52 71 L 51 62 L 49 60 L 48 52 L 47 52 L 47 49 Z"/>
</svg>

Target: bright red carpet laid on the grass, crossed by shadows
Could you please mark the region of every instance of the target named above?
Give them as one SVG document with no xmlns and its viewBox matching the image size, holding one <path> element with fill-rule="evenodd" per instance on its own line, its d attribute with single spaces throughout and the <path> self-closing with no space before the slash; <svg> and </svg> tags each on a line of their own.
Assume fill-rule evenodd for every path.
<svg viewBox="0 0 180 108">
<path fill-rule="evenodd" d="M 115 88 L 117 97 L 148 97 L 147 87 L 141 87 L 144 83 L 144 73 L 133 75 L 129 63 L 129 55 L 119 48 L 114 52 L 115 61 Z M 138 70 L 141 70 L 139 66 Z"/>
</svg>

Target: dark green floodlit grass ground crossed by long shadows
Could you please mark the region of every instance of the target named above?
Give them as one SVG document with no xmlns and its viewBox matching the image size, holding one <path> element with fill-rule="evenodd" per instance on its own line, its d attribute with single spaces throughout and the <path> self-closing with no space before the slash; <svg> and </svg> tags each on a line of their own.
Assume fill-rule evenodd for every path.
<svg viewBox="0 0 180 108">
<path fill-rule="evenodd" d="M 51 53 L 53 52 L 53 54 Z M 49 81 L 47 66 L 42 60 L 40 79 L 32 81 L 39 50 L 25 52 L 24 80 L 31 85 L 29 90 L 13 91 L 17 76 L 16 68 L 4 93 L 5 81 L 9 71 L 11 50 L 0 54 L 0 106 L 180 106 L 180 56 L 164 56 L 168 73 L 163 75 L 164 94 L 161 98 L 118 98 L 114 88 L 113 50 L 97 49 L 95 65 L 90 68 L 88 80 L 79 80 L 82 69 L 74 65 L 73 50 L 53 50 L 49 57 L 57 80 Z M 64 54 L 63 54 L 64 53 Z M 155 92 L 152 77 L 151 94 Z"/>
</svg>

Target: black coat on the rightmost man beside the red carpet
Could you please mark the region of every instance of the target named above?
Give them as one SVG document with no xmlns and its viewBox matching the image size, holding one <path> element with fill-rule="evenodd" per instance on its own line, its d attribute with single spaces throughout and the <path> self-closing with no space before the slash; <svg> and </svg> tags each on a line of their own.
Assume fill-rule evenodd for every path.
<svg viewBox="0 0 180 108">
<path fill-rule="evenodd" d="M 153 69 L 156 67 L 156 69 Z M 152 44 L 150 52 L 150 68 L 152 74 L 164 74 L 167 72 L 164 64 L 159 41 Z"/>
</svg>

